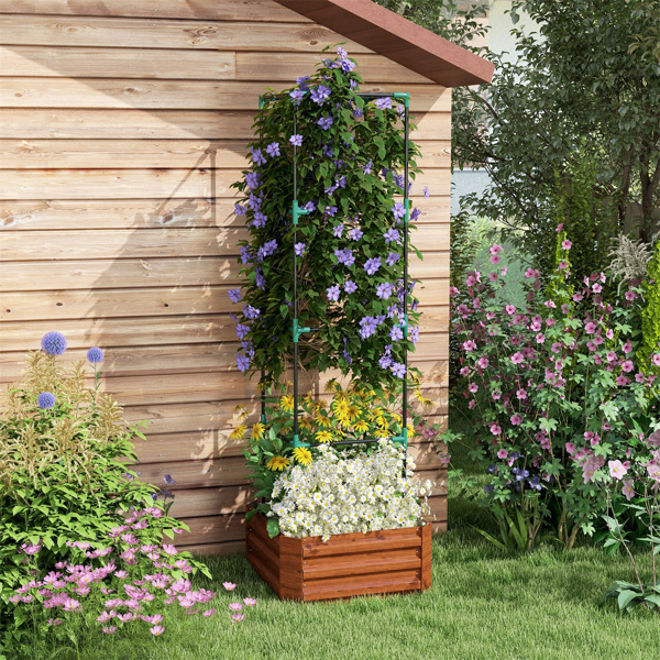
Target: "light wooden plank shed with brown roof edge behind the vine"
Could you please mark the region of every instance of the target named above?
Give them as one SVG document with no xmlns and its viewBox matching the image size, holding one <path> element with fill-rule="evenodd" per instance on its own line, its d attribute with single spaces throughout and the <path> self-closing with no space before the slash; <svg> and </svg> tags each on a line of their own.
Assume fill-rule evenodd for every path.
<svg viewBox="0 0 660 660">
<path fill-rule="evenodd" d="M 451 87 L 492 65 L 369 0 L 3 0 L 0 3 L 0 369 L 20 375 L 50 330 L 64 360 L 106 351 L 103 387 L 131 421 L 141 479 L 177 482 L 172 513 L 201 552 L 243 547 L 248 493 L 234 406 L 230 184 L 258 96 L 345 42 L 363 91 L 408 91 L 428 186 L 416 243 L 421 341 L 411 363 L 447 413 Z M 415 442 L 424 476 L 443 474 Z"/>
</svg>

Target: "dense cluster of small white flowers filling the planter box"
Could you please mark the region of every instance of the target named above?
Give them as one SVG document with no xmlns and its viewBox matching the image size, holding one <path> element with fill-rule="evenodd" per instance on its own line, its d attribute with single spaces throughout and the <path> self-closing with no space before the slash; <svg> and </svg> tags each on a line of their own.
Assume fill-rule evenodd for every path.
<svg viewBox="0 0 660 660">
<path fill-rule="evenodd" d="M 336 534 L 414 527 L 429 514 L 433 483 L 413 480 L 415 462 L 402 446 L 381 440 L 369 454 L 329 444 L 319 452 L 307 468 L 294 465 L 274 484 L 268 515 L 279 517 L 285 536 L 328 540 Z"/>
</svg>

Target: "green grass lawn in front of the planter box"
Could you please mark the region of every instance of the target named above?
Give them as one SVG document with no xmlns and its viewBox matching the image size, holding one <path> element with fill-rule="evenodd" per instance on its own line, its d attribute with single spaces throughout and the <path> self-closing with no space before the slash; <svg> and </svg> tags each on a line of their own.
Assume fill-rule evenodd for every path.
<svg viewBox="0 0 660 660">
<path fill-rule="evenodd" d="M 466 465 L 465 465 L 466 466 Z M 632 581 L 623 556 L 605 557 L 584 541 L 572 552 L 543 544 L 508 556 L 472 525 L 487 525 L 474 504 L 449 501 L 449 532 L 433 541 L 433 586 L 424 594 L 339 603 L 280 603 L 242 554 L 212 558 L 218 591 L 211 618 L 170 608 L 166 632 L 146 624 L 132 637 L 85 637 L 75 650 L 34 650 L 63 660 L 626 660 L 660 659 L 660 617 L 620 614 L 601 594 Z M 640 557 L 645 570 L 650 560 Z M 223 581 L 238 583 L 233 594 Z M 251 596 L 242 624 L 228 604 Z M 12 659 L 13 660 L 13 659 Z"/>
</svg>

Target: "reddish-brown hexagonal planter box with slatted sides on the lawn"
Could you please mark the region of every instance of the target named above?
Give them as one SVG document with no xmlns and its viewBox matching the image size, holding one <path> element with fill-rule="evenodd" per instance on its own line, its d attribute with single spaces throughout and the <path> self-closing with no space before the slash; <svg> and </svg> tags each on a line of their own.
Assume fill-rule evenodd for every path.
<svg viewBox="0 0 660 660">
<path fill-rule="evenodd" d="M 248 507 L 250 510 L 250 507 Z M 270 538 L 266 518 L 246 524 L 248 561 L 283 601 L 330 601 L 431 586 L 430 524 L 321 537 Z"/>
</svg>

